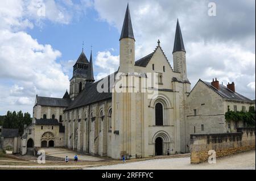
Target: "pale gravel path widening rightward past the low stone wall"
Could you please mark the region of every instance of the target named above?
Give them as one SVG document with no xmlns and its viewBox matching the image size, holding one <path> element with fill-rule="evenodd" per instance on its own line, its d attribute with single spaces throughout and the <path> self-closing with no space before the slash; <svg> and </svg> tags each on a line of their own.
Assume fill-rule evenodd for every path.
<svg viewBox="0 0 256 181">
<path fill-rule="evenodd" d="M 200 163 L 191 164 L 190 158 L 167 158 L 167 159 L 152 159 L 148 161 L 121 163 L 110 166 L 90 167 L 85 169 L 100 169 L 100 170 L 255 170 L 255 150 L 241 154 L 232 155 L 229 157 L 217 158 L 216 164 Z"/>
</svg>

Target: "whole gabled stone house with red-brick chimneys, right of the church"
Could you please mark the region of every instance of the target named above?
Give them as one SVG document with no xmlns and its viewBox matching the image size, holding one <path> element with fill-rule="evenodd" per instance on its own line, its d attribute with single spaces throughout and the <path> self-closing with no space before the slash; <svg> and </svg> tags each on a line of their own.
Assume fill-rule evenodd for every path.
<svg viewBox="0 0 256 181">
<path fill-rule="evenodd" d="M 190 134 L 236 132 L 246 127 L 242 121 L 227 123 L 225 113 L 249 111 L 249 107 L 255 108 L 255 101 L 236 92 L 234 82 L 224 86 L 216 78 L 212 82 L 199 79 L 187 98 L 186 144 Z"/>
</svg>

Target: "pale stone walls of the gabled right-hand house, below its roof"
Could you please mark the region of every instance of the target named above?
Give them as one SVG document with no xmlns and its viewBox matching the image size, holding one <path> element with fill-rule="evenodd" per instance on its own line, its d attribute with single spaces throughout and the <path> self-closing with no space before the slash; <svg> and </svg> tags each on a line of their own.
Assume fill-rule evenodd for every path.
<svg viewBox="0 0 256 181">
<path fill-rule="evenodd" d="M 225 121 L 228 107 L 230 111 L 234 111 L 234 106 L 237 111 L 241 111 L 243 106 L 248 111 L 250 106 L 255 107 L 255 103 L 222 98 L 203 81 L 197 82 L 187 98 L 186 151 L 189 151 L 191 134 L 236 132 L 236 128 L 245 127 L 242 122 L 235 124 Z"/>
</svg>

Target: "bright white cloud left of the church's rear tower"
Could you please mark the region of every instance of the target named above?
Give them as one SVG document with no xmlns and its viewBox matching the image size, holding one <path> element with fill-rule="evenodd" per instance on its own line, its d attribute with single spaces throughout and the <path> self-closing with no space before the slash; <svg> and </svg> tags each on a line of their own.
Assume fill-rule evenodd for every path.
<svg viewBox="0 0 256 181">
<path fill-rule="evenodd" d="M 61 52 L 40 44 L 24 31 L 34 26 L 33 20 L 38 21 L 39 2 L 42 1 L 0 1 L 1 114 L 7 110 L 32 113 L 36 94 L 60 97 L 69 87 L 67 67 L 56 62 Z M 69 22 L 70 17 L 59 4 L 43 2 L 48 12 L 46 19 Z"/>
</svg>

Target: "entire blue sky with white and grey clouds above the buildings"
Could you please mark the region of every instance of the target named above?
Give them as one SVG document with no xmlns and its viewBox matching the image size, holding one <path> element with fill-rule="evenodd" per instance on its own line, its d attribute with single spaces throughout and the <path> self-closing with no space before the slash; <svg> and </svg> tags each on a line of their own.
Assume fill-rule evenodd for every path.
<svg viewBox="0 0 256 181">
<path fill-rule="evenodd" d="M 209 2 L 216 16 L 209 16 Z M 96 79 L 118 68 L 119 35 L 127 1 L 1 0 L 0 115 L 32 113 L 35 95 L 62 97 L 72 66 L 92 46 Z M 130 0 L 136 59 L 160 39 L 172 63 L 179 18 L 192 87 L 217 77 L 255 99 L 255 1 Z"/>
</svg>

